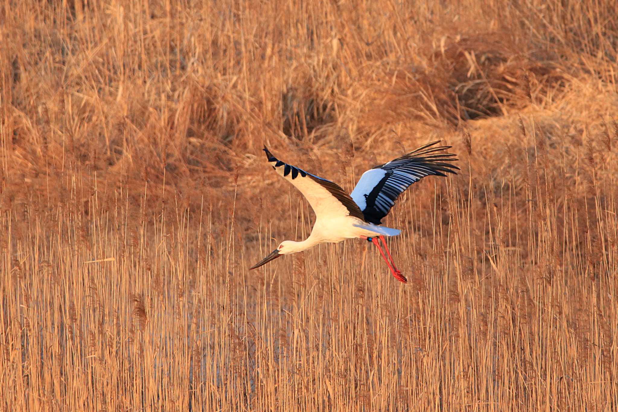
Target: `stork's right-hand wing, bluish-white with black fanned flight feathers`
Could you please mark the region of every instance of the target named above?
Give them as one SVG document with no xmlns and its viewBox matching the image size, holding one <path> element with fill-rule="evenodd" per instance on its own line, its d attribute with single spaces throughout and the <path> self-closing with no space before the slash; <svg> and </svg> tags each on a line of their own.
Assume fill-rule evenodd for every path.
<svg viewBox="0 0 618 412">
<path fill-rule="evenodd" d="M 363 173 L 350 196 L 363 211 L 365 221 L 379 225 L 399 195 L 423 177 L 446 176 L 445 172 L 456 174 L 459 167 L 447 163 L 457 161 L 456 155 L 444 153 L 451 146 L 431 147 L 437 143 L 428 143 Z"/>
</svg>

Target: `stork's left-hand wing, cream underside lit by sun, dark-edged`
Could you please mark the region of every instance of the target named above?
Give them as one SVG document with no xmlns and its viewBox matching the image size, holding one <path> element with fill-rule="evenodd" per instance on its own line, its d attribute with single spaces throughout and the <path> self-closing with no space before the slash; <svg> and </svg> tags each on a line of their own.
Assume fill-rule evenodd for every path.
<svg viewBox="0 0 618 412">
<path fill-rule="evenodd" d="M 330 180 L 298 169 L 275 158 L 264 146 L 266 157 L 276 172 L 292 183 L 315 211 L 316 219 L 321 216 L 353 216 L 363 219 L 363 212 L 350 195 Z"/>
</svg>

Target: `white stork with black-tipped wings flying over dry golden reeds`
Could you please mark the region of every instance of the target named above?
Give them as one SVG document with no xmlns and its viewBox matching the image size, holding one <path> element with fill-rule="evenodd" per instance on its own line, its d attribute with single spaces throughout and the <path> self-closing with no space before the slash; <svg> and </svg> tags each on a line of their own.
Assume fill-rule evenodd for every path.
<svg viewBox="0 0 618 412">
<path fill-rule="evenodd" d="M 250 270 L 284 254 L 307 250 L 318 243 L 337 243 L 345 239 L 361 238 L 375 244 L 395 279 L 406 283 L 407 279 L 395 266 L 384 240 L 385 236 L 399 235 L 401 230 L 383 227 L 381 221 L 391 211 L 399 195 L 412 183 L 425 176 L 446 177 L 444 173 L 457 174 L 455 170 L 459 170 L 459 167 L 448 163 L 457 161 L 458 159 L 454 158 L 456 155 L 445 152 L 451 146 L 436 146 L 438 143 L 439 141 L 427 143 L 400 158 L 367 170 L 350 195 L 330 180 L 280 161 L 264 146 L 268 162 L 307 198 L 316 219 L 306 240 L 281 242 L 278 248 L 250 267 Z M 384 250 L 378 240 L 384 245 Z"/>
</svg>

